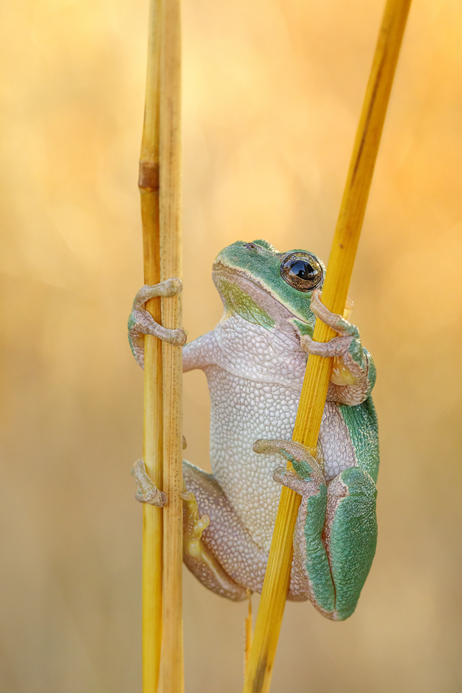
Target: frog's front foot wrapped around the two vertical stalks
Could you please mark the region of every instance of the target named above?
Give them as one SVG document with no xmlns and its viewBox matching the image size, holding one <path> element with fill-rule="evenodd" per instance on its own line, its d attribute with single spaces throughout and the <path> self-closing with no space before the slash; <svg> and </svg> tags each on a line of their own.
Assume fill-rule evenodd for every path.
<svg viewBox="0 0 462 693">
<path fill-rule="evenodd" d="M 182 285 L 179 279 L 166 279 L 159 284 L 148 286 L 147 284 L 136 294 L 132 313 L 128 320 L 128 339 L 130 347 L 132 347 L 133 355 L 136 362 L 141 367 L 144 366 L 144 335 L 153 335 L 159 337 L 163 342 L 168 342 L 174 347 L 182 347 L 188 338 L 186 332 L 182 329 L 169 330 L 162 325 L 159 325 L 148 310 L 143 308 L 143 304 L 149 299 L 155 297 L 170 298 L 181 292 Z"/>
</svg>

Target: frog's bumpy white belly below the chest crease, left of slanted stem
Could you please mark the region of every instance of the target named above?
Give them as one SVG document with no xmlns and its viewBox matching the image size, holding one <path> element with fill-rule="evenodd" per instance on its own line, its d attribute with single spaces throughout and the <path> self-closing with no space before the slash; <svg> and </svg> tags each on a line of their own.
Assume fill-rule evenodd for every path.
<svg viewBox="0 0 462 693">
<path fill-rule="evenodd" d="M 269 550 L 281 486 L 273 480 L 281 457 L 257 455 L 259 438 L 292 437 L 299 392 L 206 369 L 211 391 L 210 458 L 215 479 L 254 541 Z"/>
</svg>

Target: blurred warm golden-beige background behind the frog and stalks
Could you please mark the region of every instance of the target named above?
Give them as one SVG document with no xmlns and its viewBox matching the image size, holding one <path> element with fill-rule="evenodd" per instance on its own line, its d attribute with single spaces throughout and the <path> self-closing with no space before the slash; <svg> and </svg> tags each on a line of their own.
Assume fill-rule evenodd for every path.
<svg viewBox="0 0 462 693">
<path fill-rule="evenodd" d="M 184 324 L 217 252 L 327 258 L 382 0 L 185 0 Z M 0 690 L 136 693 L 145 0 L 3 2 Z M 380 539 L 355 615 L 289 604 L 272 691 L 462 690 L 462 5 L 415 0 L 350 295 L 375 356 Z M 208 394 L 185 377 L 188 459 Z M 255 600 L 256 601 L 256 600 Z M 185 574 L 186 690 L 242 681 L 245 604 Z"/>
</svg>

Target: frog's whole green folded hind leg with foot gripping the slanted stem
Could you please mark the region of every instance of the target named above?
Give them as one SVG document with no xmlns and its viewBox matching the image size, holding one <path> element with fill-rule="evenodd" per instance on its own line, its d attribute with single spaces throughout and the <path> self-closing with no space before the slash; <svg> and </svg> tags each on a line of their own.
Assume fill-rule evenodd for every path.
<svg viewBox="0 0 462 693">
<path fill-rule="evenodd" d="M 294 532 L 294 563 L 310 602 L 324 616 L 350 616 L 371 568 L 377 543 L 375 484 L 350 467 L 326 484 L 308 448 L 294 441 L 261 440 L 258 453 L 280 453 L 294 471 L 276 469 L 274 479 L 302 497 Z"/>
</svg>

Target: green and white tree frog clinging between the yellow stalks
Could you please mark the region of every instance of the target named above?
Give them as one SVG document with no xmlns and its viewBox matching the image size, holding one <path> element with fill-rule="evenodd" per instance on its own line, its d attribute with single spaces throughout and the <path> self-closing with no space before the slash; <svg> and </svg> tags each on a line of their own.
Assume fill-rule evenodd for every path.
<svg viewBox="0 0 462 693">
<path fill-rule="evenodd" d="M 355 611 L 377 543 L 373 358 L 348 322 L 350 311 L 337 315 L 323 304 L 326 268 L 312 252 L 281 253 L 264 239 L 236 241 L 217 255 L 212 276 L 222 319 L 192 342 L 143 308 L 151 297 L 179 293 L 179 279 L 144 286 L 129 320 L 139 365 L 150 334 L 183 349 L 184 372 L 202 369 L 207 378 L 212 471 L 184 460 L 184 563 L 222 597 L 238 602 L 261 593 L 287 486 L 301 496 L 287 599 L 309 600 L 326 618 L 345 620 Z M 316 319 L 336 336 L 314 342 Z M 310 354 L 334 364 L 317 450 L 292 440 Z M 143 459 L 133 473 L 137 500 L 168 502 Z"/>
</svg>

